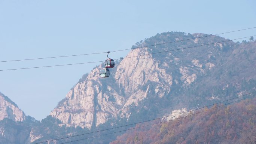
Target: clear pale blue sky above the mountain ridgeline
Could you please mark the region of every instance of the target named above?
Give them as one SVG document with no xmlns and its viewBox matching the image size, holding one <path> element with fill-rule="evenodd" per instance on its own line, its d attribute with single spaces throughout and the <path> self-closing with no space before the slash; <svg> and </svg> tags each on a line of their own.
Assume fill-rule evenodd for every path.
<svg viewBox="0 0 256 144">
<path fill-rule="evenodd" d="M 129 49 L 167 31 L 218 34 L 252 28 L 255 6 L 255 0 L 0 0 L 0 61 Z M 253 35 L 256 28 L 220 36 Z M 0 62 L 0 70 L 104 61 L 106 54 Z M 0 92 L 42 120 L 99 64 L 0 71 Z"/>
</svg>

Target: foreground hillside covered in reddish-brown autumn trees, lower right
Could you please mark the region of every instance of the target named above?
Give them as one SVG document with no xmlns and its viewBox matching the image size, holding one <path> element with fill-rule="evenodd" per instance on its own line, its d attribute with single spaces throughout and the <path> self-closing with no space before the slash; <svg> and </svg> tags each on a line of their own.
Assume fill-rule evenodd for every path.
<svg viewBox="0 0 256 144">
<path fill-rule="evenodd" d="M 217 106 L 186 118 L 127 131 L 110 144 L 255 144 L 256 129 L 251 128 L 256 126 L 256 98 Z M 251 130 L 244 131 L 247 129 Z"/>
</svg>

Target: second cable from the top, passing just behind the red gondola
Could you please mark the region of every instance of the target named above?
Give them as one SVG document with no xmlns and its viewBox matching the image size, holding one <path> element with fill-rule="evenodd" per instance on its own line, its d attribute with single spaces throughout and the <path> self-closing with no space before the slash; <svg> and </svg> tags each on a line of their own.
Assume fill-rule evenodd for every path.
<svg viewBox="0 0 256 144">
<path fill-rule="evenodd" d="M 249 36 L 249 37 L 253 37 L 253 36 Z M 232 39 L 232 40 L 239 40 L 239 39 L 244 39 L 244 38 L 248 38 L 248 37 L 241 37 L 241 38 Z M 134 58 L 134 57 L 138 57 L 138 56 L 153 55 L 153 54 L 156 54 L 156 53 L 164 53 L 164 52 L 171 52 L 171 51 L 175 51 L 175 50 L 196 48 L 196 47 L 200 47 L 200 46 L 213 45 L 213 44 L 216 44 L 216 43 L 229 42 L 229 41 L 232 41 L 232 40 L 225 40 L 225 41 L 222 41 L 222 42 L 214 42 L 214 43 L 208 43 L 208 44 L 203 44 L 203 45 L 198 45 L 198 46 L 191 46 L 191 47 L 187 47 L 187 48 L 173 49 L 173 50 L 167 50 L 167 51 L 155 52 L 155 53 L 149 53 L 149 54 L 137 55 L 137 56 L 130 56 L 130 57 L 119 58 L 119 59 Z M 115 59 L 115 60 L 119 60 L 119 59 Z M 31 68 L 45 68 L 45 67 L 59 67 L 59 66 L 65 66 L 65 65 L 78 65 L 78 64 L 96 63 L 96 62 L 104 62 L 104 61 L 82 62 L 82 63 L 62 64 L 62 65 L 49 65 L 49 66 L 41 66 L 41 67 L 13 68 L 13 69 L 6 69 L 6 70 L 0 70 L 0 71 L 23 70 L 23 69 L 31 69 Z"/>
</svg>

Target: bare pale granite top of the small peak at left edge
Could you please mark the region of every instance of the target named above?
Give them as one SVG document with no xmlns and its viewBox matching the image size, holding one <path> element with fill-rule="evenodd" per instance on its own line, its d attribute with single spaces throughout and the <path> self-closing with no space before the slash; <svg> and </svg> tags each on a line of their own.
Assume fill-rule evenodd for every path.
<svg viewBox="0 0 256 144">
<path fill-rule="evenodd" d="M 23 122 L 25 117 L 24 112 L 14 102 L 0 93 L 0 120 L 7 118 L 15 122 Z"/>
</svg>

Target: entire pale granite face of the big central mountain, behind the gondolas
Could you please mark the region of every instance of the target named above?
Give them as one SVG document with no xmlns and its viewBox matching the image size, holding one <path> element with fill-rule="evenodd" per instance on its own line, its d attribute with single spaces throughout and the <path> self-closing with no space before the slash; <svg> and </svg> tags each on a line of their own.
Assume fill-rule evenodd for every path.
<svg viewBox="0 0 256 144">
<path fill-rule="evenodd" d="M 154 92 L 160 98 L 165 92 L 169 93 L 173 83 L 171 74 L 159 68 L 151 55 L 136 57 L 148 53 L 147 48 L 131 50 L 111 71 L 112 79 L 100 78 L 101 66 L 96 67 L 84 82 L 77 83 L 68 92 L 50 115 L 66 126 L 92 128 L 117 116 L 129 118 L 129 106 L 147 97 L 149 83 L 155 83 Z M 106 83 L 109 79 L 111 83 Z M 160 88 L 165 91 L 159 91 Z"/>
</svg>

